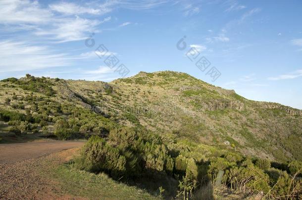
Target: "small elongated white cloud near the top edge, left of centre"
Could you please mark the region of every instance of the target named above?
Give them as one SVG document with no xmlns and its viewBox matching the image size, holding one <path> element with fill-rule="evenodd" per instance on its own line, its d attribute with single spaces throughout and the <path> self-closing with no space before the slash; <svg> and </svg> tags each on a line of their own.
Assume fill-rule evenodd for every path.
<svg viewBox="0 0 302 200">
<path fill-rule="evenodd" d="M 99 14 L 106 14 L 110 12 L 109 9 L 95 9 L 90 7 L 84 7 L 77 5 L 75 3 L 70 2 L 59 2 L 56 4 L 50 4 L 50 9 L 56 12 L 60 12 L 67 15 L 79 15 L 79 14 L 93 14 L 93 15 L 99 15 Z"/>
</svg>

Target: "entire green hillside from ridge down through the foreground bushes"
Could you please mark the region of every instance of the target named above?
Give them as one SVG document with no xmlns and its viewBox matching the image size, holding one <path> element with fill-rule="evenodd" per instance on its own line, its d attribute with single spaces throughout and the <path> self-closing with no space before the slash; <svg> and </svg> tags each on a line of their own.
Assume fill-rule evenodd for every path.
<svg viewBox="0 0 302 200">
<path fill-rule="evenodd" d="M 185 193 L 179 181 L 193 184 L 190 197 L 201 195 L 219 170 L 232 189 L 252 177 L 249 194 L 301 194 L 301 181 L 291 182 L 301 176 L 302 111 L 251 101 L 185 73 L 140 72 L 109 83 L 30 75 L 1 80 L 0 120 L 0 142 L 26 133 L 91 138 L 75 167 L 134 183 L 156 174 L 158 184 L 140 184 L 163 187 L 166 198 Z"/>
</svg>

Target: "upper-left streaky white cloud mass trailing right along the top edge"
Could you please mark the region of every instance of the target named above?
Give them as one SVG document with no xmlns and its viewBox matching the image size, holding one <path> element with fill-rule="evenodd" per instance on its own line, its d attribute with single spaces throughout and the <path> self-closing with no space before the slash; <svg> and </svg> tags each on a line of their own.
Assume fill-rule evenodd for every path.
<svg viewBox="0 0 302 200">
<path fill-rule="evenodd" d="M 95 15 L 106 14 L 120 7 L 151 9 L 167 1 L 111 0 L 104 3 L 91 1 L 83 5 L 66 1 L 50 5 L 40 2 L 38 0 L 0 0 L 2 30 L 7 32 L 26 30 L 28 35 L 35 34 L 44 40 L 57 42 L 83 40 L 91 32 L 100 32 L 99 25 L 111 19 L 111 17 L 106 17 L 100 20 Z M 84 14 L 92 16 L 84 18 Z"/>
</svg>

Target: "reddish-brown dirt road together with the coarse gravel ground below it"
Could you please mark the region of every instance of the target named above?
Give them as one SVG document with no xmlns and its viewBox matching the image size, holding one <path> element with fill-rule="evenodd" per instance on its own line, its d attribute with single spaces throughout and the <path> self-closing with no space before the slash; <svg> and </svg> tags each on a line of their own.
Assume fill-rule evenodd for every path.
<svg viewBox="0 0 302 200">
<path fill-rule="evenodd" d="M 0 199 L 77 199 L 61 194 L 57 184 L 43 174 L 70 160 L 83 144 L 41 141 L 0 145 Z"/>
</svg>

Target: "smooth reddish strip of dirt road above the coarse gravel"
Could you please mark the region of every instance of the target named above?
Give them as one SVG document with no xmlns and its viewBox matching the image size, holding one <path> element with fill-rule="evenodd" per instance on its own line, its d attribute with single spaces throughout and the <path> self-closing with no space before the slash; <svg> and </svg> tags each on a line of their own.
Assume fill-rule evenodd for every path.
<svg viewBox="0 0 302 200">
<path fill-rule="evenodd" d="M 83 142 L 43 140 L 28 143 L 0 144 L 0 163 L 13 163 L 16 161 L 36 159 L 75 147 Z"/>
</svg>

